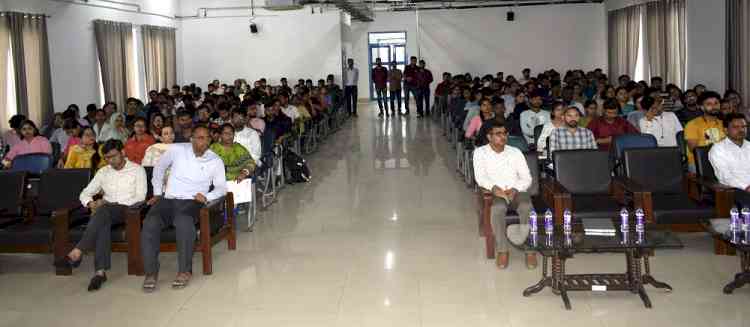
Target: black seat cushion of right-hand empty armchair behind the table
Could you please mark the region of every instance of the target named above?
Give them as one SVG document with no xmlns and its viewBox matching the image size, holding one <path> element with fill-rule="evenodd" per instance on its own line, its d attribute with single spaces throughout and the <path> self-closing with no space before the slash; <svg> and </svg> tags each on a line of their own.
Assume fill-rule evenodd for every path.
<svg viewBox="0 0 750 327">
<path fill-rule="evenodd" d="M 698 204 L 687 195 L 654 195 L 652 200 L 657 224 L 697 224 L 715 216 L 712 206 Z"/>
</svg>

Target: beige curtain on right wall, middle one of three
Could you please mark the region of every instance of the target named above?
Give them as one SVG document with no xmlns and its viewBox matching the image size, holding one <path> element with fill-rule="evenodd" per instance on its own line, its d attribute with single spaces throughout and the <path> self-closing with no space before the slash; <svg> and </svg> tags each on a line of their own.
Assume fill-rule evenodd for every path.
<svg viewBox="0 0 750 327">
<path fill-rule="evenodd" d="M 646 15 L 646 67 L 651 77 L 685 86 L 685 0 L 660 0 L 644 4 Z"/>
</svg>

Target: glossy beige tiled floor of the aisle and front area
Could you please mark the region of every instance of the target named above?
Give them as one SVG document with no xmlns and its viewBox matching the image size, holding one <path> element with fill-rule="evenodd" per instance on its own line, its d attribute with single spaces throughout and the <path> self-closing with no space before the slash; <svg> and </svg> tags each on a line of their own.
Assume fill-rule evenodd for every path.
<svg viewBox="0 0 750 327">
<path fill-rule="evenodd" d="M 721 293 L 736 258 L 714 256 L 702 234 L 657 253 L 654 275 L 675 291 L 649 290 L 651 310 L 630 293 L 573 293 L 569 312 L 549 290 L 522 297 L 539 271 L 517 252 L 506 271 L 483 258 L 474 197 L 440 128 L 362 107 L 309 158 L 312 183 L 285 189 L 237 251 L 215 247 L 213 275 L 196 255 L 193 283 L 173 291 L 175 255 L 163 254 L 161 288 L 143 294 L 115 254 L 92 294 L 90 258 L 56 277 L 49 256 L 0 255 L 0 326 L 750 326 L 750 287 Z M 574 260 L 569 271 L 624 269 L 610 255 Z"/>
</svg>

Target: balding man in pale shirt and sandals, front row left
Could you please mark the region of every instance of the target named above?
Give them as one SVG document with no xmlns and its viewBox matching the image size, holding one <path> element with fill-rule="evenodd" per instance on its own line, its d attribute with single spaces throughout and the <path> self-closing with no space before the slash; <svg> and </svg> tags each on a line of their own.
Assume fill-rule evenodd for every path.
<svg viewBox="0 0 750 327">
<path fill-rule="evenodd" d="M 177 235 L 178 273 L 172 288 L 181 289 L 192 278 L 195 224 L 200 209 L 227 193 L 224 162 L 208 149 L 211 134 L 207 127 L 193 129 L 190 143 L 175 143 L 154 167 L 151 185 L 154 197 L 143 221 L 141 251 L 146 278 L 143 290 L 153 292 L 159 274 L 161 230 L 174 226 Z M 169 178 L 164 190 L 164 174 Z M 211 190 L 213 185 L 213 190 Z M 163 195 L 162 195 L 163 194 Z"/>
</svg>

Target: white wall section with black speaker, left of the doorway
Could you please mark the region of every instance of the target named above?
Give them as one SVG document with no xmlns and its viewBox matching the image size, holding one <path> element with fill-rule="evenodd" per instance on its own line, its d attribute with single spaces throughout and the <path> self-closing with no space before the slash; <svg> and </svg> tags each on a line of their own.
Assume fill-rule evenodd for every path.
<svg viewBox="0 0 750 327">
<path fill-rule="evenodd" d="M 200 7 L 247 6 L 249 1 L 184 0 L 182 15 Z M 262 2 L 261 2 L 262 4 Z M 257 5 L 257 3 L 256 3 Z M 182 20 L 182 83 L 205 85 L 215 78 L 231 83 L 261 77 L 277 84 L 281 77 L 325 79 L 341 75 L 341 26 L 338 11 L 315 14 L 310 8 L 293 11 L 256 9 L 259 33 L 250 33 L 248 17 Z M 209 16 L 248 15 L 247 10 L 211 11 Z"/>
</svg>

